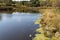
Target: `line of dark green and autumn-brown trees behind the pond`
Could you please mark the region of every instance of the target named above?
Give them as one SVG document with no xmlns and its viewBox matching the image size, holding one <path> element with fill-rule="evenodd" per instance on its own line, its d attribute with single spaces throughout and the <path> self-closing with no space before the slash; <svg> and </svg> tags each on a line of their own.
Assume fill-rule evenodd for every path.
<svg viewBox="0 0 60 40">
<path fill-rule="evenodd" d="M 12 1 L 12 0 L 0 0 L 0 3 L 6 4 L 19 4 L 23 6 L 31 7 L 60 7 L 60 0 L 30 0 L 30 1 Z"/>
</svg>

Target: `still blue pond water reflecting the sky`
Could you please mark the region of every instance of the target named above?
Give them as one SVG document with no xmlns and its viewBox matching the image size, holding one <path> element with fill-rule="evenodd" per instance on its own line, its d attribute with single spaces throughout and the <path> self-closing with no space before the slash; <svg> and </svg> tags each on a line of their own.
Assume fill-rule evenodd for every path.
<svg viewBox="0 0 60 40">
<path fill-rule="evenodd" d="M 0 40 L 32 40 L 39 14 L 13 12 L 0 13 Z M 31 35 L 31 37 L 29 37 Z"/>
</svg>

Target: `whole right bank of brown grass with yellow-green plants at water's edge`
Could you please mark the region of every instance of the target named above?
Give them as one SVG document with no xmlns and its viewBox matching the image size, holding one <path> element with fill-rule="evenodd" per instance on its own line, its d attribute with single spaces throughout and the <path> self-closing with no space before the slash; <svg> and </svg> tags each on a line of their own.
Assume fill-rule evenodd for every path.
<svg viewBox="0 0 60 40">
<path fill-rule="evenodd" d="M 33 40 L 60 40 L 60 11 L 59 9 L 46 9 L 43 16 L 35 21 L 39 24 L 37 34 Z"/>
</svg>

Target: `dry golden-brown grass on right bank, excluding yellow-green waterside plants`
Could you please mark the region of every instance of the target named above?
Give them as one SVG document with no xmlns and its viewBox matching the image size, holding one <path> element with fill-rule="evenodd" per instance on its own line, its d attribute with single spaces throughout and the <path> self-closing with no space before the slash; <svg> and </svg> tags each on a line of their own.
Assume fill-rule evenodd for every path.
<svg viewBox="0 0 60 40">
<path fill-rule="evenodd" d="M 42 25 L 41 28 L 45 37 L 50 36 L 51 40 L 60 40 L 60 12 L 56 11 L 55 13 L 54 11 L 56 11 L 56 9 L 45 9 L 43 17 L 39 19 L 41 20 L 39 24 Z M 42 31 L 38 30 L 38 32 Z M 38 38 L 38 36 L 36 38 Z"/>
</svg>

